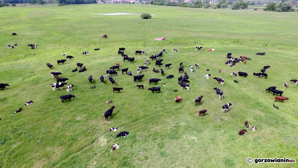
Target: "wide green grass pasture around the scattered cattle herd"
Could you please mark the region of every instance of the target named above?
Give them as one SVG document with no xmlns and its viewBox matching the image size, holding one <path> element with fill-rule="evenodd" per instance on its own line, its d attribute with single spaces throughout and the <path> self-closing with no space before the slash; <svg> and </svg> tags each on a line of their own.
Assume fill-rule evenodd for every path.
<svg viewBox="0 0 298 168">
<path fill-rule="evenodd" d="M 139 15 L 87 14 L 116 12 L 156 15 L 143 20 Z M 0 83 L 10 84 L 0 91 L 0 167 L 297 167 L 246 163 L 248 157 L 298 159 L 298 86 L 290 82 L 298 78 L 298 34 L 293 31 L 298 28 L 297 12 L 18 4 L 2 7 L 0 13 Z M 18 35 L 12 36 L 14 32 Z M 108 38 L 102 39 L 101 34 Z M 164 41 L 153 40 L 163 36 Z M 15 49 L 4 48 L 14 43 L 19 44 Z M 30 50 L 27 44 L 38 46 Z M 195 51 L 195 46 L 204 48 Z M 135 62 L 123 62 L 117 54 L 119 47 L 125 47 L 125 54 L 134 56 Z M 215 51 L 206 52 L 210 47 Z M 112 92 L 107 77 L 101 84 L 100 75 L 116 62 L 120 69 L 128 67 L 137 75 L 137 67 L 163 48 L 167 49 L 163 63 L 173 65 L 164 70 L 164 77 L 152 72 L 154 61 L 149 60 L 149 70 L 140 73 L 145 75 L 142 82 L 133 83 L 133 77 L 118 71 L 114 87 L 123 87 L 121 93 Z M 146 57 L 136 56 L 135 50 L 145 50 Z M 89 56 L 82 56 L 83 51 L 89 51 Z M 234 58 L 245 54 L 252 60 L 229 67 L 224 64 L 229 52 Z M 257 56 L 257 52 L 266 55 Z M 57 65 L 57 60 L 65 58 L 63 53 L 75 58 Z M 46 67 L 47 62 L 53 70 Z M 72 73 L 77 62 L 84 63 L 87 71 Z M 190 76 L 189 91 L 177 84 L 180 62 Z M 190 73 L 190 65 L 196 63 L 200 69 Z M 266 71 L 268 79 L 255 78 L 252 73 L 265 65 L 271 66 Z M 59 99 L 67 94 L 65 87 L 52 91 L 51 71 L 62 72 L 60 77 L 75 85 L 69 93 L 75 94 L 71 102 L 63 104 Z M 231 75 L 238 71 L 249 76 Z M 205 79 L 208 73 L 224 79 L 224 86 Z M 166 79 L 170 74 L 175 78 Z M 94 79 L 92 85 L 89 75 Z M 149 78 L 162 79 L 156 85 L 161 93 L 147 90 Z M 289 83 L 286 89 L 285 82 Z M 139 90 L 136 84 L 145 89 Z M 96 89 L 90 89 L 94 85 Z M 270 86 L 283 90 L 289 101 L 274 103 L 274 96 L 265 92 Z M 214 87 L 223 90 L 223 99 L 218 100 Z M 183 98 L 179 104 L 174 102 L 178 95 Z M 203 100 L 194 107 L 200 95 Z M 34 103 L 24 106 L 29 100 Z M 116 108 L 108 122 L 103 114 L 110 100 Z M 221 113 L 221 107 L 230 102 L 229 111 Z M 13 114 L 20 107 L 23 111 Z M 208 112 L 199 117 L 203 109 Z M 238 135 L 246 128 L 245 121 L 258 130 Z M 109 132 L 111 127 L 118 131 Z M 128 137 L 116 138 L 121 131 L 128 131 Z M 109 153 L 114 144 L 120 147 Z"/>
</svg>

